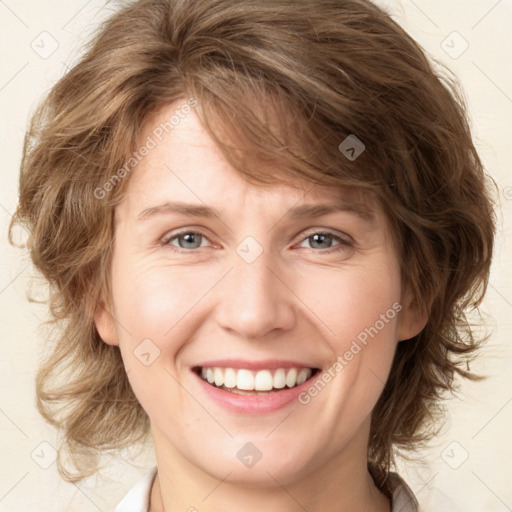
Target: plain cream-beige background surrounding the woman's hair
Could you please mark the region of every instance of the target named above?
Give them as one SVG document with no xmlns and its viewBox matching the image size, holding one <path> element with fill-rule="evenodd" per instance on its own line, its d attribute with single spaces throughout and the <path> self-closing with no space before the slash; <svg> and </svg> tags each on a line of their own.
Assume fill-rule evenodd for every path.
<svg viewBox="0 0 512 512">
<path fill-rule="evenodd" d="M 512 2 L 385 4 L 462 81 L 477 147 L 498 183 L 501 203 L 498 248 L 483 307 L 492 337 L 475 365 L 489 378 L 462 383 L 460 394 L 447 402 L 443 434 L 415 461 L 401 461 L 401 472 L 427 510 L 455 510 L 435 505 L 436 495 L 443 493 L 464 511 L 512 511 Z M 27 302 L 32 269 L 5 235 L 16 205 L 29 114 L 112 5 L 105 8 L 99 0 L 0 1 L 0 511 L 107 512 L 153 463 L 150 453 L 133 466 L 113 461 L 103 478 L 78 486 L 58 477 L 52 463 L 57 435 L 34 406 L 34 374 L 44 339 L 38 325 L 45 309 Z"/>
</svg>

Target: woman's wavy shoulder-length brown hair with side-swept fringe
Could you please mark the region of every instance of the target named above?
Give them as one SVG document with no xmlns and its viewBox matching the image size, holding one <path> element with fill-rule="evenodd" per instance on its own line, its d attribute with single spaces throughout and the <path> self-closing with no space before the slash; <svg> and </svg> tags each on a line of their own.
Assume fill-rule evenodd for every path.
<svg viewBox="0 0 512 512">
<path fill-rule="evenodd" d="M 40 104 L 11 230 L 26 226 L 50 285 L 58 330 L 37 403 L 62 430 L 62 476 L 76 481 L 97 469 L 102 451 L 147 438 L 119 349 L 93 323 L 110 293 L 113 214 L 129 172 L 97 196 L 133 155 L 148 117 L 180 98 L 197 102 L 249 181 L 357 187 L 382 206 L 403 284 L 428 311 L 422 332 L 398 344 L 373 411 L 368 466 L 382 485 L 395 449 L 432 436 L 456 374 L 476 377 L 467 361 L 483 339 L 466 314 L 485 293 L 495 217 L 460 85 L 366 0 L 128 3 Z M 351 134 L 365 144 L 353 161 L 338 148 Z"/>
</svg>

